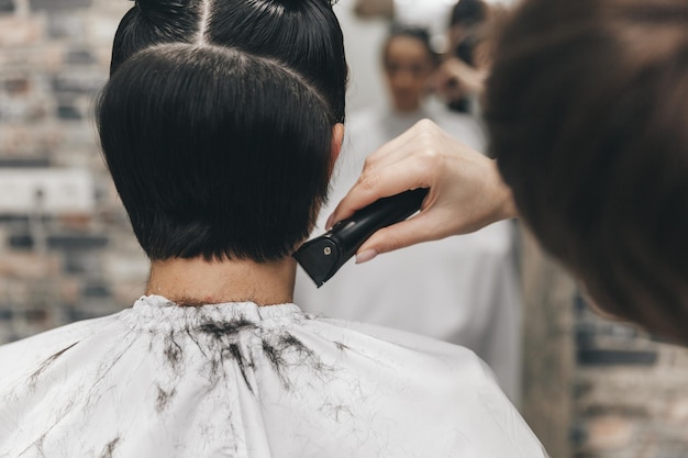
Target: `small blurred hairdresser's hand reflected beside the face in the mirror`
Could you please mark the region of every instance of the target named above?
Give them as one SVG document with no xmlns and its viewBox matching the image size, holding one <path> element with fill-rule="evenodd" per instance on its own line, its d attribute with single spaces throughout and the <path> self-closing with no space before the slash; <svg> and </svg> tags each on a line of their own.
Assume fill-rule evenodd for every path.
<svg viewBox="0 0 688 458">
<path fill-rule="evenodd" d="M 435 71 L 431 87 L 442 99 L 452 101 L 465 96 L 481 97 L 487 78 L 486 70 L 479 70 L 465 62 L 451 57 Z"/>
</svg>

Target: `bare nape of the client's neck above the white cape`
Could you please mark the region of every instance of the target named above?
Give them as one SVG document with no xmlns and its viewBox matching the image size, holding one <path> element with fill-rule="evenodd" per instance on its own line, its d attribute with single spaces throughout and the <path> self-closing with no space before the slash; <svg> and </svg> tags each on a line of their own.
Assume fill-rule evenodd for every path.
<svg viewBox="0 0 688 458">
<path fill-rule="evenodd" d="M 291 258 L 266 264 L 174 258 L 152 262 L 146 294 L 163 295 L 179 305 L 275 305 L 292 302 L 295 278 Z"/>
</svg>

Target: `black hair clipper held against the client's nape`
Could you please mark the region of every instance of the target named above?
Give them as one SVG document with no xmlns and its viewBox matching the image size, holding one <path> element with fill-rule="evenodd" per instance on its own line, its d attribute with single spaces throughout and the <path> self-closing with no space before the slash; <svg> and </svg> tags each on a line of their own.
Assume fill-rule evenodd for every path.
<svg viewBox="0 0 688 458">
<path fill-rule="evenodd" d="M 292 256 L 320 288 L 376 231 L 415 213 L 425 196 L 428 189 L 419 188 L 379 199 L 352 217 L 340 221 L 320 237 L 304 243 Z"/>
</svg>

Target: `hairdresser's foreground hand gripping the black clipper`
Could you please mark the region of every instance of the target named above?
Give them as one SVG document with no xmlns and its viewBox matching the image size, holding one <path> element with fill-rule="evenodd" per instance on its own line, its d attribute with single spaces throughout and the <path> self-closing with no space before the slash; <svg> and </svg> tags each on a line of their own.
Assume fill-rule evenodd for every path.
<svg viewBox="0 0 688 458">
<path fill-rule="evenodd" d="M 421 212 L 376 232 L 358 249 L 356 262 L 515 216 L 511 191 L 496 163 L 424 120 L 366 159 L 328 228 L 380 198 L 417 188 L 430 188 Z"/>
</svg>

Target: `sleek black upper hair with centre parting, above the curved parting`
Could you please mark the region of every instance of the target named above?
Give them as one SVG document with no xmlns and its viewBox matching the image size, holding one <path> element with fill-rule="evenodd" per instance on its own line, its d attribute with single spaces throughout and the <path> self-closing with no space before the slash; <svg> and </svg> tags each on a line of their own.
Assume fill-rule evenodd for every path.
<svg viewBox="0 0 688 458">
<path fill-rule="evenodd" d="M 111 74 L 163 43 L 208 43 L 273 57 L 300 72 L 345 118 L 344 38 L 331 0 L 137 0 L 118 29 Z"/>
</svg>

